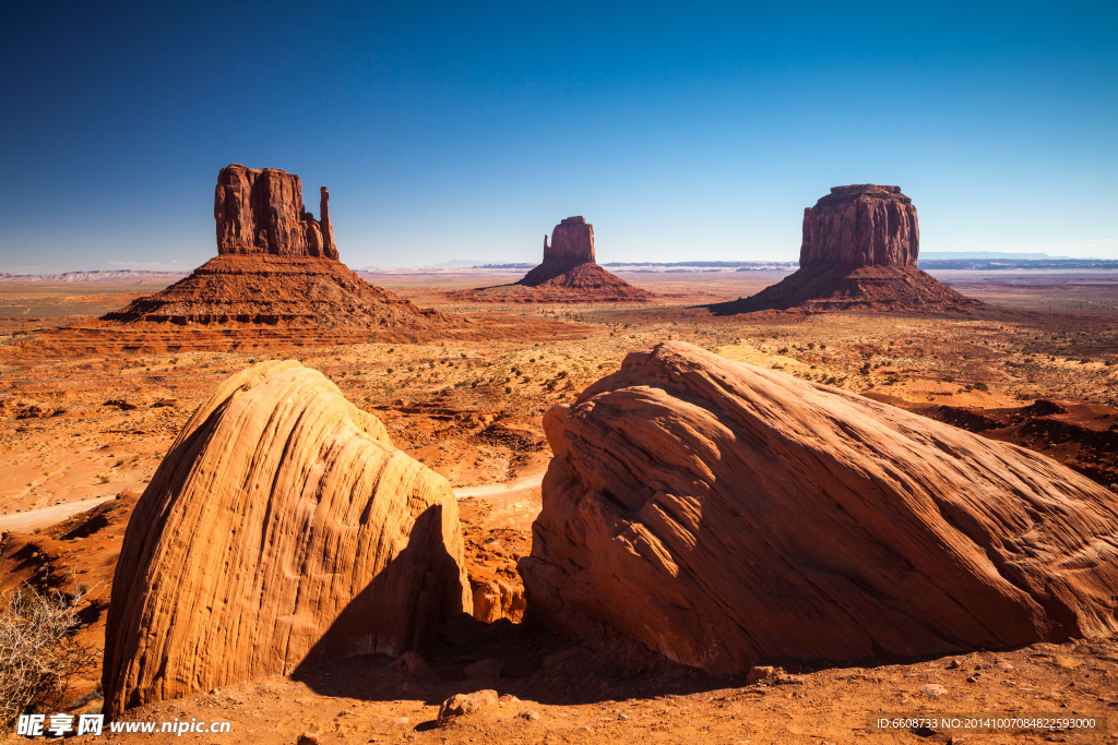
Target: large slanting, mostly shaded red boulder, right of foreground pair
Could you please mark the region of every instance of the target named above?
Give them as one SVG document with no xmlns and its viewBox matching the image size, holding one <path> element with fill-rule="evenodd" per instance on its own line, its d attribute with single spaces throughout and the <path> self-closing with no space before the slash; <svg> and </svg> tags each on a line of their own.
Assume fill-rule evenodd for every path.
<svg viewBox="0 0 1118 745">
<path fill-rule="evenodd" d="M 529 615 L 713 672 L 1118 630 L 1118 498 L 1049 458 L 683 343 L 543 419 Z"/>
</svg>

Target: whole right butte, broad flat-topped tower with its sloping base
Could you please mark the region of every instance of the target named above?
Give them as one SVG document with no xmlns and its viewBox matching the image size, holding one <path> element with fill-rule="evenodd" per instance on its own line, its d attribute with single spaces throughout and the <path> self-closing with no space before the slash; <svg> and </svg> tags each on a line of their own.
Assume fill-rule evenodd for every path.
<svg viewBox="0 0 1118 745">
<path fill-rule="evenodd" d="M 973 313 L 982 307 L 917 268 L 920 228 L 900 187 L 834 187 L 804 210 L 799 269 L 716 313 L 866 308 Z"/>
</svg>

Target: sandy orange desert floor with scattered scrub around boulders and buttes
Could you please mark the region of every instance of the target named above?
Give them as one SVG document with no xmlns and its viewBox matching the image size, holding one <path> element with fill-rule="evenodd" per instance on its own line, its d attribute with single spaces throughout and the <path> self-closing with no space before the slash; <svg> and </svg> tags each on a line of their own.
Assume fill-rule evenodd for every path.
<svg viewBox="0 0 1118 745">
<path fill-rule="evenodd" d="M 264 359 L 293 357 L 323 372 L 380 417 L 398 447 L 451 480 L 475 581 L 519 582 L 515 563 L 531 550 L 539 479 L 550 458 L 542 412 L 572 401 L 627 352 L 666 338 L 1023 445 L 1118 491 L 1118 273 L 936 273 L 991 305 L 975 317 L 719 317 L 702 307 L 750 295 L 784 276 L 775 271 L 623 275 L 656 294 L 641 305 L 489 306 L 451 303 L 443 294 L 518 276 L 370 277 L 421 306 L 470 315 L 493 329 L 490 338 L 297 348 L 273 342 L 231 352 L 59 351 L 40 344 L 51 328 L 80 325 L 158 287 L 0 284 L 0 590 L 23 582 L 87 585 L 80 638 L 102 644 L 112 572 L 139 494 L 209 391 Z M 543 321 L 565 324 L 565 333 L 517 333 L 518 324 Z M 843 666 L 773 660 L 783 672 L 750 685 L 632 646 L 577 644 L 508 621 L 464 627 L 439 643 L 426 653 L 429 669 L 350 658 L 299 680 L 230 686 L 126 715 L 228 720 L 230 734 L 87 739 L 1118 743 L 1114 638 Z M 500 666 L 466 676 L 466 666 L 485 659 Z M 72 713 L 97 710 L 98 678 L 92 670 L 77 682 L 73 698 L 82 703 Z M 486 688 L 500 703 L 435 726 L 445 698 Z M 868 724 L 880 713 L 1111 722 L 1105 732 L 1081 734 L 941 725 L 882 734 Z"/>
</svg>

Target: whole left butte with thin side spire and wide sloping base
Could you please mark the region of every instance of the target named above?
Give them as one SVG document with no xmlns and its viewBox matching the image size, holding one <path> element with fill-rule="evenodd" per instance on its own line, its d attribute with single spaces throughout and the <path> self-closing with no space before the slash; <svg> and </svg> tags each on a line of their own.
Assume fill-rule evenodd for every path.
<svg viewBox="0 0 1118 745">
<path fill-rule="evenodd" d="M 167 289 L 103 316 L 131 326 L 338 328 L 385 341 L 463 326 L 361 279 L 338 258 L 329 193 L 321 220 L 300 178 L 280 169 L 221 169 L 214 192 L 218 255 Z"/>
</svg>

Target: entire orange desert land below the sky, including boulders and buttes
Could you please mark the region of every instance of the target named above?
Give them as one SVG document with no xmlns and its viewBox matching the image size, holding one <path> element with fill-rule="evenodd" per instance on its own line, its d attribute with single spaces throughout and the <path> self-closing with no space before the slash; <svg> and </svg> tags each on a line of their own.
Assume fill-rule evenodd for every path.
<svg viewBox="0 0 1118 745">
<path fill-rule="evenodd" d="M 929 275 L 868 185 L 832 190 L 865 235 L 807 211 L 807 280 L 614 277 L 571 218 L 544 264 L 585 226 L 566 270 L 613 279 L 510 299 L 475 288 L 538 288 L 358 276 L 325 217 L 276 252 L 256 181 L 293 193 L 222 170 L 218 258 L 165 289 L 0 283 L 0 590 L 79 598 L 93 653 L 58 711 L 229 723 L 199 743 L 1118 741 L 1118 269 Z M 1098 724 L 929 719 L 968 714 Z"/>
</svg>

